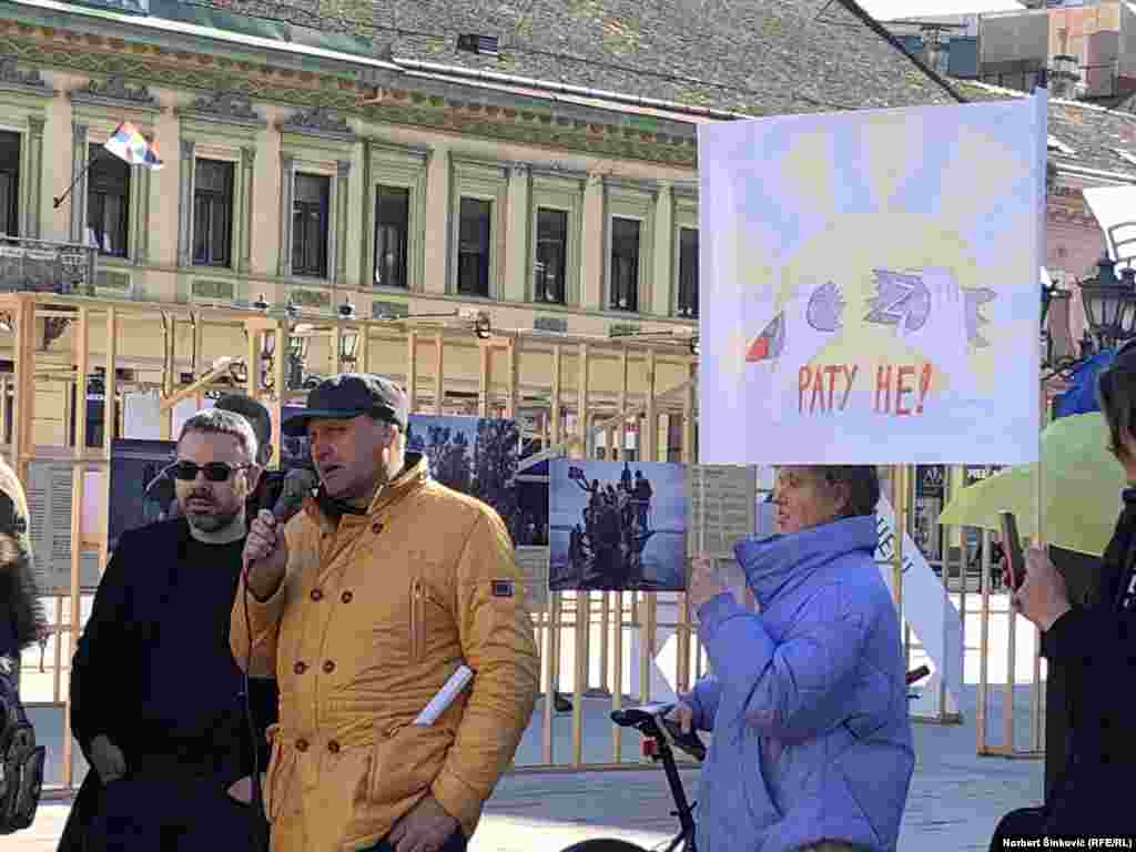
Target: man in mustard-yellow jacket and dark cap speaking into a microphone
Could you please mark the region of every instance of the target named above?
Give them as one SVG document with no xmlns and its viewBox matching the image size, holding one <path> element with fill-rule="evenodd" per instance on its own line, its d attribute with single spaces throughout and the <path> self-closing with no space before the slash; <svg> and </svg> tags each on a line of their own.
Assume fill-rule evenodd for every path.
<svg viewBox="0 0 1136 852">
<path fill-rule="evenodd" d="M 231 646 L 279 684 L 273 852 L 461 852 L 532 717 L 540 667 L 509 534 L 431 479 L 407 419 L 378 376 L 312 390 L 285 434 L 310 440 L 319 488 L 249 533 Z M 471 685 L 415 725 L 462 665 Z"/>
</svg>

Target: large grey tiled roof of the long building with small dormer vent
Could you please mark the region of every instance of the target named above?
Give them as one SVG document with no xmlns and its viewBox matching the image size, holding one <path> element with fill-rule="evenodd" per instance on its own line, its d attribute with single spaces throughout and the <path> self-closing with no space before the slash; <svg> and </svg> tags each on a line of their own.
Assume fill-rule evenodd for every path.
<svg viewBox="0 0 1136 852">
<path fill-rule="evenodd" d="M 192 2 L 367 32 L 376 51 L 390 48 L 395 59 L 753 116 L 953 102 L 909 57 L 829 0 Z M 460 34 L 498 36 L 501 58 L 459 51 Z"/>
</svg>

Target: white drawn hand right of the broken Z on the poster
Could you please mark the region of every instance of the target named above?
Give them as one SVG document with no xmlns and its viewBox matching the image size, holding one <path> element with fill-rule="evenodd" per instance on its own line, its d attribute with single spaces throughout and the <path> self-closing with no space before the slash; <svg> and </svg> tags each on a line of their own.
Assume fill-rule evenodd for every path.
<svg viewBox="0 0 1136 852">
<path fill-rule="evenodd" d="M 967 336 L 967 300 L 954 274 L 943 267 L 922 270 L 927 287 L 927 316 L 922 325 L 911 328 L 917 299 L 908 300 L 900 317 L 896 334 L 900 340 L 917 349 L 937 373 L 946 377 L 954 393 L 970 394 L 975 390 L 975 374 L 970 366 L 970 341 Z M 933 385 L 935 384 L 932 379 Z"/>
</svg>

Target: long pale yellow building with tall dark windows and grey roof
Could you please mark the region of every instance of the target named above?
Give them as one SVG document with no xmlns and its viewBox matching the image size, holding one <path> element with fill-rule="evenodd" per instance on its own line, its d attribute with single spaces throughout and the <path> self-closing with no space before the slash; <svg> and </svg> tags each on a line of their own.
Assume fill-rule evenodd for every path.
<svg viewBox="0 0 1136 852">
<path fill-rule="evenodd" d="M 507 62 L 475 56 L 453 48 L 460 24 L 452 22 L 438 56 L 409 37 L 386 50 L 369 41 L 360 48 L 358 39 L 240 17 L 235 6 L 97 6 L 20 0 L 0 17 L 0 231 L 9 235 L 9 269 L 17 256 L 34 266 L 59 247 L 83 247 L 97 254 L 83 292 L 107 299 L 269 314 L 289 306 L 293 319 L 309 323 L 349 306 L 359 317 L 479 316 L 495 329 L 553 336 L 670 334 L 677 354 L 659 367 L 660 392 L 688 378 L 694 350 L 698 126 L 951 101 L 853 18 L 815 23 L 808 3 L 744 12 L 761 17 L 752 32 L 737 31 L 749 40 L 741 47 L 760 57 L 751 70 L 765 64 L 778 77 L 765 90 L 744 72 L 716 81 L 660 69 L 665 52 L 712 61 L 738 47 L 735 33 L 717 28 L 683 41 L 677 15 L 668 26 L 679 41 L 654 48 L 654 70 L 633 74 L 621 51 L 642 39 L 640 24 L 579 10 L 565 20 L 558 3 L 531 5 L 546 16 L 525 24 L 532 37 L 552 37 L 544 31 L 559 22 L 583 36 L 579 51 L 599 51 L 594 60 L 576 57 L 569 67 L 538 44 Z M 303 3 L 245 11 L 277 7 Z M 853 24 L 860 32 L 850 32 Z M 845 67 L 786 76 L 786 60 L 767 48 L 788 32 L 802 45 L 835 39 Z M 411 56 L 395 57 L 403 48 Z M 810 64 L 807 53 L 792 61 L 802 72 Z M 552 75 L 558 65 L 559 81 L 525 76 Z M 596 87 L 601 80 L 623 92 Z M 103 151 L 123 123 L 157 147 L 160 170 Z M 118 369 L 136 383 L 165 383 L 167 332 L 152 319 L 124 316 L 123 324 Z M 69 334 L 66 323 L 44 321 L 39 358 L 69 365 Z M 105 349 L 92 334 L 93 351 Z M 210 327 L 192 346 L 191 334 L 175 334 L 182 378 L 195 364 L 245 351 L 240 327 Z M 308 373 L 339 364 L 331 340 L 309 341 Z M 0 358 L 5 345 L 0 334 Z M 374 348 L 373 365 L 404 377 L 404 346 Z M 448 354 L 448 382 L 475 392 L 478 366 L 474 345 Z M 592 370 L 593 390 L 613 399 L 618 358 L 598 357 Z M 541 383 L 521 377 L 523 391 Z M 37 444 L 66 444 L 66 387 L 37 389 Z"/>
</svg>

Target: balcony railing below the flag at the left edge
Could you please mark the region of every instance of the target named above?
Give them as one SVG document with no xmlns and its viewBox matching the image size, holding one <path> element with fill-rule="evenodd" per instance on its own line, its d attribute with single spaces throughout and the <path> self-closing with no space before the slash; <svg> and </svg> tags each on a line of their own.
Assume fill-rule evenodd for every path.
<svg viewBox="0 0 1136 852">
<path fill-rule="evenodd" d="M 86 295 L 94 286 L 97 257 L 90 245 L 0 235 L 0 292 Z"/>
</svg>

